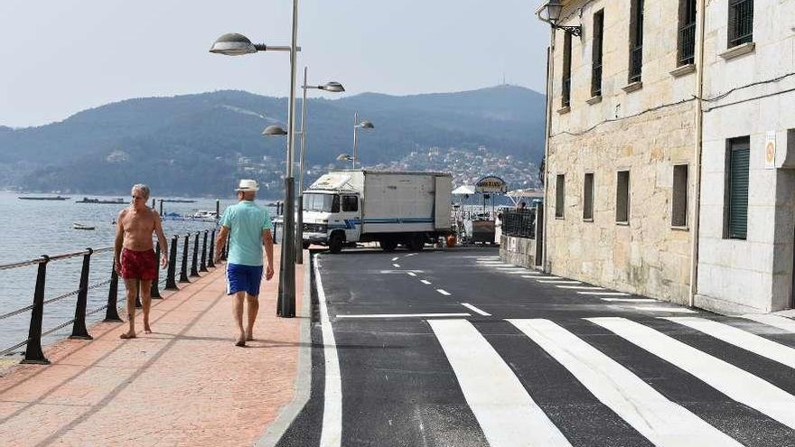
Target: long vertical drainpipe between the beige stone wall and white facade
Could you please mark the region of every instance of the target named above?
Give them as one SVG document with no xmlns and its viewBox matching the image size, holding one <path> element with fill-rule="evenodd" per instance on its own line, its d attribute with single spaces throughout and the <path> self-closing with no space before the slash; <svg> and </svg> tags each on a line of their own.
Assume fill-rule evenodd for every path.
<svg viewBox="0 0 795 447">
<path fill-rule="evenodd" d="M 704 93 L 704 24 L 706 23 L 706 2 L 698 0 L 698 53 L 696 57 L 696 145 L 694 163 L 696 168 L 696 187 L 693 197 L 693 240 L 690 247 L 690 293 L 687 305 L 693 307 L 698 292 L 698 229 L 701 215 L 701 152 L 704 144 L 704 108 L 701 97 Z"/>
</svg>

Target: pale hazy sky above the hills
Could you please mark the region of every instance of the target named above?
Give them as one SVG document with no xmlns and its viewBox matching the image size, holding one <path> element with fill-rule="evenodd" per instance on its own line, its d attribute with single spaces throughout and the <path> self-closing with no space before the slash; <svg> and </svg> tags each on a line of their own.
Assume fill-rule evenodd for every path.
<svg viewBox="0 0 795 447">
<path fill-rule="evenodd" d="M 543 92 L 548 27 L 533 15 L 536 3 L 303 0 L 297 76 L 308 65 L 313 84 L 407 95 L 491 87 L 504 74 Z M 287 52 L 208 50 L 229 32 L 288 45 L 291 8 L 291 0 L 2 0 L 0 125 L 226 88 L 285 97 Z"/>
</svg>

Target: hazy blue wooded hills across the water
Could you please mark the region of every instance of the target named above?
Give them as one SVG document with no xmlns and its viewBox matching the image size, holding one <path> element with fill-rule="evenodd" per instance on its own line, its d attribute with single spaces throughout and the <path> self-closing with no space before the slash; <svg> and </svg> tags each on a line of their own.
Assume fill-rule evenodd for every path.
<svg viewBox="0 0 795 447">
<path fill-rule="evenodd" d="M 300 100 L 298 101 L 300 110 Z M 376 129 L 360 134 L 360 161 L 388 163 L 432 146 L 491 151 L 538 162 L 544 97 L 527 88 L 396 97 L 365 93 L 307 101 L 307 165 L 351 152 L 355 111 Z M 217 91 L 136 98 L 47 126 L 0 126 L 0 187 L 126 192 L 147 182 L 169 194 L 228 191 L 241 175 L 278 188 L 285 139 L 261 130 L 286 121 L 286 98 Z"/>
</svg>

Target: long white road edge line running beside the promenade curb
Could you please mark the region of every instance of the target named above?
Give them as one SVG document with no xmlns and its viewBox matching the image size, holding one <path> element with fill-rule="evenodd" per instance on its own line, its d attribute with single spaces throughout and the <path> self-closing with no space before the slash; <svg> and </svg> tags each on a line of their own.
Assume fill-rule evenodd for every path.
<svg viewBox="0 0 795 447">
<path fill-rule="evenodd" d="M 325 386 L 323 397 L 323 427 L 321 447 L 339 447 L 342 442 L 342 381 L 337 345 L 334 341 L 332 322 L 326 307 L 326 295 L 320 277 L 320 259 L 314 257 L 314 281 L 317 284 L 317 300 L 320 304 L 320 321 L 323 330 L 323 358 L 325 359 Z"/>
</svg>

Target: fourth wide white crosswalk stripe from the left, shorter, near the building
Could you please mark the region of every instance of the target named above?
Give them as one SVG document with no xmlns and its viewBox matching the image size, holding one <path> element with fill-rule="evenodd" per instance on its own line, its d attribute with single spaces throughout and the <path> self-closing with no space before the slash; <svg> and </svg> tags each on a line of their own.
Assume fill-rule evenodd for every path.
<svg viewBox="0 0 795 447">
<path fill-rule="evenodd" d="M 664 317 L 665 320 L 684 324 L 696 331 L 706 333 L 718 340 L 733 344 L 738 348 L 750 350 L 756 355 L 777 361 L 782 365 L 795 368 L 795 349 L 765 339 L 751 332 L 729 326 L 721 322 L 697 317 Z"/>
</svg>

